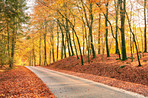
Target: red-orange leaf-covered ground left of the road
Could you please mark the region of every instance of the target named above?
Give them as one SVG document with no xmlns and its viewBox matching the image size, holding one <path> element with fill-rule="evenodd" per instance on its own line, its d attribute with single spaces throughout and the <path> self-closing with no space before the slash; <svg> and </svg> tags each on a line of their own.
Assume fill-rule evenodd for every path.
<svg viewBox="0 0 148 98">
<path fill-rule="evenodd" d="M 55 98 L 48 87 L 33 72 L 17 66 L 0 71 L 0 98 Z"/>
</svg>

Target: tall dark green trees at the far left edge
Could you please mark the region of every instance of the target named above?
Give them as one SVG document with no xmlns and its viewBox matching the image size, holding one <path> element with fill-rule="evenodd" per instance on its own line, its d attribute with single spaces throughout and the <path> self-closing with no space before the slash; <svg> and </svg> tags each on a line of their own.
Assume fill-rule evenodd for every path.
<svg viewBox="0 0 148 98">
<path fill-rule="evenodd" d="M 25 10 L 25 0 L 0 1 L 0 67 L 13 67 L 16 41 L 23 37 L 22 24 L 27 19 Z"/>
</svg>

